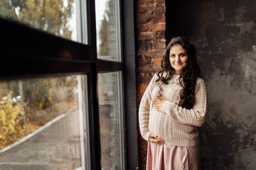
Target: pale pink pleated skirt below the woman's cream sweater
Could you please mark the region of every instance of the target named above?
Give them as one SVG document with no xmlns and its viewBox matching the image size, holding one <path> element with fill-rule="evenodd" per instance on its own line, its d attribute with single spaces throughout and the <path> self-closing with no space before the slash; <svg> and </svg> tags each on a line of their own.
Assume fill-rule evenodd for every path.
<svg viewBox="0 0 256 170">
<path fill-rule="evenodd" d="M 146 170 L 199 170 L 200 147 L 176 147 L 149 142 Z"/>
</svg>

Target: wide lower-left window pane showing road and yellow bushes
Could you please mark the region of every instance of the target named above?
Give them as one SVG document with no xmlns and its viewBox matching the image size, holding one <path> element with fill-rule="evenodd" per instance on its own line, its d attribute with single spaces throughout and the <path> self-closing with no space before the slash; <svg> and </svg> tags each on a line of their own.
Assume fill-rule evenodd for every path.
<svg viewBox="0 0 256 170">
<path fill-rule="evenodd" d="M 86 169 L 85 78 L 0 82 L 0 169 Z"/>
</svg>

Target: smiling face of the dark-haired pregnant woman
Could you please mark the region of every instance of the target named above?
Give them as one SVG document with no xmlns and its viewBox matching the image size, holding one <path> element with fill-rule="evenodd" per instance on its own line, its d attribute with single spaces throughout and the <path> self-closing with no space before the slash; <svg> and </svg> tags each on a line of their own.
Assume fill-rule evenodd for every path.
<svg viewBox="0 0 256 170">
<path fill-rule="evenodd" d="M 188 64 L 188 54 L 181 45 L 171 47 L 169 60 L 171 67 L 175 69 L 174 74 L 181 74 Z"/>
</svg>

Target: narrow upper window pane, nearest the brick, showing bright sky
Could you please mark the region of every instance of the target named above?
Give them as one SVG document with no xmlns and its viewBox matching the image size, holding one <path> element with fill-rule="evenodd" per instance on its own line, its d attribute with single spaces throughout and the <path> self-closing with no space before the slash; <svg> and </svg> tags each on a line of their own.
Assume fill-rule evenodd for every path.
<svg viewBox="0 0 256 170">
<path fill-rule="evenodd" d="M 121 62 L 119 0 L 96 0 L 97 57 Z"/>
</svg>

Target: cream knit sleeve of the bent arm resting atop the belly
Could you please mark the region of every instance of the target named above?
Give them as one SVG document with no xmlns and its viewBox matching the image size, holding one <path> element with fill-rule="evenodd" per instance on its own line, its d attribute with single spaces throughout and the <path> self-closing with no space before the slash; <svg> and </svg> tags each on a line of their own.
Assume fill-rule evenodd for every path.
<svg viewBox="0 0 256 170">
<path fill-rule="evenodd" d="M 197 80 L 195 97 L 196 103 L 191 109 L 182 108 L 171 101 L 165 101 L 161 113 L 168 114 L 178 123 L 200 127 L 206 120 L 208 108 L 206 84 L 203 79 L 198 78 Z"/>
</svg>

